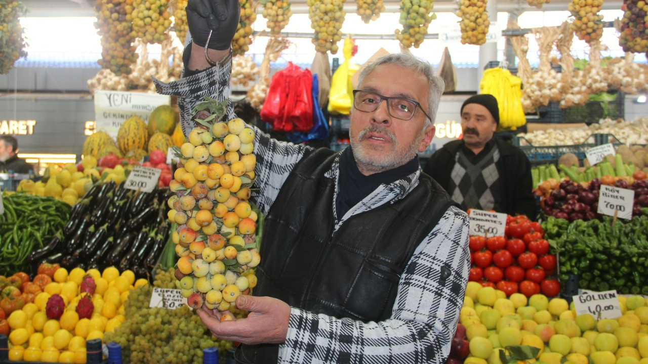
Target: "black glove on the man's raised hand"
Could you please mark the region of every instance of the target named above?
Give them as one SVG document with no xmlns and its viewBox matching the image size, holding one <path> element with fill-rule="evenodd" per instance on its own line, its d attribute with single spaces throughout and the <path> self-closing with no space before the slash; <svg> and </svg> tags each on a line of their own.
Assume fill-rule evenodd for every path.
<svg viewBox="0 0 648 364">
<path fill-rule="evenodd" d="M 238 0 L 189 0 L 187 25 L 194 43 L 205 47 L 209 30 L 209 49 L 229 49 L 237 32 L 240 5 Z"/>
</svg>

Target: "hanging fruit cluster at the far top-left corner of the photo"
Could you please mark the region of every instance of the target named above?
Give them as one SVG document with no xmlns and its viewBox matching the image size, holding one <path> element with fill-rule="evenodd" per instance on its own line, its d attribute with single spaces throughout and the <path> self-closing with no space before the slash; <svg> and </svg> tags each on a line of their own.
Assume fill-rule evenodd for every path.
<svg viewBox="0 0 648 364">
<path fill-rule="evenodd" d="M 18 18 L 27 14 L 20 0 L 0 0 L 0 74 L 8 73 L 14 63 L 27 56 L 25 31 Z"/>
</svg>

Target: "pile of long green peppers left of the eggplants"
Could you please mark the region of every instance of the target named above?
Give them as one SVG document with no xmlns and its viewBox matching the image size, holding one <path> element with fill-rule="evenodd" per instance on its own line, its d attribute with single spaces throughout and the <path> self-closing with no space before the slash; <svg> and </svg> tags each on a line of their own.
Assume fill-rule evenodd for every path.
<svg viewBox="0 0 648 364">
<path fill-rule="evenodd" d="M 5 213 L 0 215 L 0 275 L 28 272 L 25 262 L 32 250 L 40 249 L 61 234 L 70 206 L 51 197 L 3 193 Z"/>
</svg>

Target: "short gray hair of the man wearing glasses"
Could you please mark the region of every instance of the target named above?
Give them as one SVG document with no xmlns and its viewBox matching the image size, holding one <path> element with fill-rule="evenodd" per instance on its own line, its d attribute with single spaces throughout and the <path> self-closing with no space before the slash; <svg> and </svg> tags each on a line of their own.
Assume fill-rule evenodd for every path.
<svg viewBox="0 0 648 364">
<path fill-rule="evenodd" d="M 358 85 L 362 84 L 362 80 L 364 80 L 367 74 L 371 73 L 371 71 L 376 67 L 383 64 L 399 65 L 400 67 L 411 69 L 416 73 L 421 73 L 423 76 L 428 78 L 430 95 L 428 97 L 428 109 L 426 110 L 426 113 L 432 117 L 432 120 L 426 119 L 425 126 L 432 126 L 434 124 L 434 119 L 436 119 L 437 116 L 437 109 L 439 109 L 441 94 L 443 94 L 443 90 L 445 89 L 445 81 L 443 81 L 443 78 L 435 76 L 434 69 L 430 63 L 422 58 L 414 56 L 410 52 L 390 53 L 369 63 L 367 67 L 362 69 L 362 71 L 360 71 L 360 77 L 358 78 Z"/>
</svg>

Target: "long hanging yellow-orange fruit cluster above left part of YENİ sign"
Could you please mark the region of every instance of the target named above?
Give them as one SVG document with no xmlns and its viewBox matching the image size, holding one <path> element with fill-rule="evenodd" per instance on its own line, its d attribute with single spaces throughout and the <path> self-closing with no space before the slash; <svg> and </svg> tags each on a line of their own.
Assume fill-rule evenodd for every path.
<svg viewBox="0 0 648 364">
<path fill-rule="evenodd" d="M 133 32 L 131 15 L 134 9 L 126 3 L 126 0 L 95 1 L 95 28 L 101 36 L 102 47 L 101 59 L 97 63 L 117 76 L 131 74 L 133 70 L 130 66 L 138 57 L 132 45 L 137 37 L 137 33 Z"/>
</svg>

